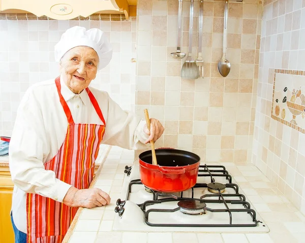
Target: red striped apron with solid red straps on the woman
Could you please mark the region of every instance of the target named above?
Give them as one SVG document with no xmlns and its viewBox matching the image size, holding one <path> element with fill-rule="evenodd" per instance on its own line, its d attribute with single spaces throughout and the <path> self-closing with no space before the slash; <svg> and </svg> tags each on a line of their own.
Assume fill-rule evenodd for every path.
<svg viewBox="0 0 305 243">
<path fill-rule="evenodd" d="M 55 79 L 60 103 L 68 119 L 64 143 L 57 154 L 44 164 L 55 177 L 78 189 L 87 189 L 94 177 L 95 160 L 105 132 L 105 120 L 93 93 L 86 92 L 104 125 L 76 124 L 71 111 L 60 93 L 59 77 Z M 78 207 L 69 207 L 38 194 L 26 194 L 26 220 L 28 243 L 62 242 Z"/>
</svg>

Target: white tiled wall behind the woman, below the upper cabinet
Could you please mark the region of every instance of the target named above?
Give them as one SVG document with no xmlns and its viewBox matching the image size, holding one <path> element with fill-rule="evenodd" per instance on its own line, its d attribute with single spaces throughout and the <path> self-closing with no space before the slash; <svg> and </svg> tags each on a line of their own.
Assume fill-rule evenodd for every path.
<svg viewBox="0 0 305 243">
<path fill-rule="evenodd" d="M 110 64 L 90 86 L 109 92 L 124 110 L 134 110 L 136 65 L 131 59 L 135 58 L 135 20 L 0 20 L 0 135 L 11 135 L 27 88 L 59 75 L 54 45 L 75 25 L 100 28 L 113 47 Z"/>
</svg>

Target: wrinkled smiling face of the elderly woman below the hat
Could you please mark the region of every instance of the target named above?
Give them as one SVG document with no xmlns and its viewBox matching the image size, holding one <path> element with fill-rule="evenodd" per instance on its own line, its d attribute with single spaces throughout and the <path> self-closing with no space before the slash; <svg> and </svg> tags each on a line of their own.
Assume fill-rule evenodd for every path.
<svg viewBox="0 0 305 243">
<path fill-rule="evenodd" d="M 99 56 L 90 47 L 74 47 L 60 60 L 60 73 L 69 89 L 79 94 L 96 78 Z"/>
</svg>

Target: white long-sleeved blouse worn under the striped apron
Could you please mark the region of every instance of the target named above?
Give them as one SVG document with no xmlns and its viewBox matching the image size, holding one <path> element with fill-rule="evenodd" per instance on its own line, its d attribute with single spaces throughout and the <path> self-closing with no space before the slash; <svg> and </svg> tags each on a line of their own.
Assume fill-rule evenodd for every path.
<svg viewBox="0 0 305 243">
<path fill-rule="evenodd" d="M 75 123 L 103 124 L 85 90 L 74 94 L 63 82 L 62 95 Z M 105 91 L 89 88 L 102 110 L 106 129 L 102 144 L 126 149 L 143 149 L 148 135 L 145 120 L 123 111 Z M 29 88 L 21 100 L 9 146 L 13 191 L 12 213 L 16 227 L 26 233 L 26 193 L 37 193 L 62 202 L 71 185 L 44 169 L 62 146 L 68 127 L 59 101 L 55 80 Z"/>
</svg>

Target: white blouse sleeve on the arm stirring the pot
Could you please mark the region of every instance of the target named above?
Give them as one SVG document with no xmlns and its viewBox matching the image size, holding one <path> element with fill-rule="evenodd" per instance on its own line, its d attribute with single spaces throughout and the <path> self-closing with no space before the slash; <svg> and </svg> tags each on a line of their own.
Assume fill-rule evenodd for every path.
<svg viewBox="0 0 305 243">
<path fill-rule="evenodd" d="M 102 143 L 134 150 L 148 148 L 149 145 L 144 144 L 149 137 L 143 131 L 146 122 L 135 114 L 122 110 L 108 94 L 107 96 L 108 114 Z"/>
</svg>

